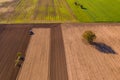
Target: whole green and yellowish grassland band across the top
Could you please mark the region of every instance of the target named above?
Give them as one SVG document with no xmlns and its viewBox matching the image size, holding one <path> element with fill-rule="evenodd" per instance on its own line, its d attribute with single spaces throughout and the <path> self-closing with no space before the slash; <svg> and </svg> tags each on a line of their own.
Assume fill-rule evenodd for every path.
<svg viewBox="0 0 120 80">
<path fill-rule="evenodd" d="M 8 9 L 0 12 L 0 23 L 119 22 L 119 4 L 120 0 L 13 0 L 0 3 L 1 10 Z"/>
</svg>

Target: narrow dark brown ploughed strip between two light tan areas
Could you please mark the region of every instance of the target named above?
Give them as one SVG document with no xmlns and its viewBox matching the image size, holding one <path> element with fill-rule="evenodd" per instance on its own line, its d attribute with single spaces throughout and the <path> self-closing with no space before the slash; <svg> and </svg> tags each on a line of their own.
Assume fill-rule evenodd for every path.
<svg viewBox="0 0 120 80">
<path fill-rule="evenodd" d="M 65 50 L 60 26 L 51 29 L 50 80 L 68 80 Z"/>
</svg>

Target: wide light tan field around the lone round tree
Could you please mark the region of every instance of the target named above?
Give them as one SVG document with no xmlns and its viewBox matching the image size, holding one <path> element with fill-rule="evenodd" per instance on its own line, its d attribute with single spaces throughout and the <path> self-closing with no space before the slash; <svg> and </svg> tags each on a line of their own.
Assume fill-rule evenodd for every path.
<svg viewBox="0 0 120 80">
<path fill-rule="evenodd" d="M 95 32 L 97 45 L 83 42 L 85 30 Z M 119 30 L 120 24 L 63 24 L 69 80 L 120 80 Z"/>
</svg>

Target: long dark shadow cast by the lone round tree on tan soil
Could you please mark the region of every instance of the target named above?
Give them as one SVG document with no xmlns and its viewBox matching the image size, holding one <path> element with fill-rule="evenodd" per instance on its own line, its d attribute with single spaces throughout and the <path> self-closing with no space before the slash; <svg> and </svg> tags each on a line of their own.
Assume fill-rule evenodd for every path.
<svg viewBox="0 0 120 80">
<path fill-rule="evenodd" d="M 93 45 L 100 52 L 116 54 L 116 52 L 110 46 L 106 45 L 105 43 L 93 42 L 91 43 L 91 45 Z"/>
</svg>

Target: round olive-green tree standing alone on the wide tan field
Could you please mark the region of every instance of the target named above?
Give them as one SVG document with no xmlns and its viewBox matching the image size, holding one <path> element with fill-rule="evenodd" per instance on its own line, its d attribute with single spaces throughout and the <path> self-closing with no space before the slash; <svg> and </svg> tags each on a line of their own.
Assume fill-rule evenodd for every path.
<svg viewBox="0 0 120 80">
<path fill-rule="evenodd" d="M 82 36 L 88 43 L 92 43 L 96 39 L 96 35 L 92 31 L 85 31 Z"/>
</svg>

